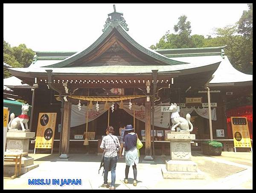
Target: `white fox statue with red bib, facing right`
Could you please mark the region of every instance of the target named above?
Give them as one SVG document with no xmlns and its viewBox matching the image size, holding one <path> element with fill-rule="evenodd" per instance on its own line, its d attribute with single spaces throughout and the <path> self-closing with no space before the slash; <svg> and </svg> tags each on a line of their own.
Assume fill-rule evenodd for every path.
<svg viewBox="0 0 256 193">
<path fill-rule="evenodd" d="M 22 128 L 22 131 L 29 131 L 29 127 L 28 127 L 28 122 L 29 122 L 29 116 L 28 111 L 29 111 L 29 104 L 22 104 L 22 113 L 20 116 L 17 116 L 15 118 L 15 114 L 12 113 L 10 115 L 10 122 L 8 124 L 8 129 L 9 130 L 18 130 L 19 128 Z M 26 128 L 24 127 L 24 124 L 26 126 Z"/>
</svg>

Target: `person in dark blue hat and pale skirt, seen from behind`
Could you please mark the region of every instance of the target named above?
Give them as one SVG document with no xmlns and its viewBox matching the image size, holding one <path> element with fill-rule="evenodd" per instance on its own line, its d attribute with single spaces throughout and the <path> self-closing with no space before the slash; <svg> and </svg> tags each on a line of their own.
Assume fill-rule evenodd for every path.
<svg viewBox="0 0 256 193">
<path fill-rule="evenodd" d="M 137 134 L 134 133 L 134 128 L 132 125 L 126 125 L 125 128 L 125 184 L 128 183 L 128 173 L 130 166 L 132 165 L 132 169 L 134 172 L 134 182 L 133 185 L 137 186 L 137 167 L 136 165 L 139 163 L 139 155 L 137 150 Z"/>
</svg>

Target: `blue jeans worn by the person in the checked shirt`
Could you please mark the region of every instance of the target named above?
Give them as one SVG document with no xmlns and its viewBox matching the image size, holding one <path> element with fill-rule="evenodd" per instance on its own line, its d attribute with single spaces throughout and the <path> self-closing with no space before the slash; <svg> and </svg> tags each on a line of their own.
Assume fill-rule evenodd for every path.
<svg viewBox="0 0 256 193">
<path fill-rule="evenodd" d="M 108 184 L 108 170 L 111 169 L 111 186 L 115 185 L 116 182 L 116 163 L 117 156 L 105 157 L 104 156 L 104 184 Z"/>
</svg>

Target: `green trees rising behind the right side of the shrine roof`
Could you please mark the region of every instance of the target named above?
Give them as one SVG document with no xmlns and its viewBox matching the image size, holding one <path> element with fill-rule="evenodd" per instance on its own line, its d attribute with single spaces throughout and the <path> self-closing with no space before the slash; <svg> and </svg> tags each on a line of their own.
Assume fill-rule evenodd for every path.
<svg viewBox="0 0 256 193">
<path fill-rule="evenodd" d="M 253 23 L 252 4 L 248 4 L 249 10 L 244 11 L 240 20 L 235 25 L 224 28 L 215 28 L 216 37 L 210 35 L 205 38 L 203 35 L 190 35 L 190 22 L 187 17 L 179 17 L 177 25 L 174 26 L 177 34 L 170 34 L 169 31 L 159 40 L 156 45 L 151 45 L 151 49 L 175 49 L 175 48 L 202 48 L 218 47 L 227 45 L 225 55 L 237 70 L 252 74 L 253 61 Z"/>
</svg>

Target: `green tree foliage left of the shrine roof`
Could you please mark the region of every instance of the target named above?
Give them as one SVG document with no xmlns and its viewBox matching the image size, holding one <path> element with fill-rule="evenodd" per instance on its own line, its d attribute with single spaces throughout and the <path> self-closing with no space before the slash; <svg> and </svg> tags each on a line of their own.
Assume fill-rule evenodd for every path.
<svg viewBox="0 0 256 193">
<path fill-rule="evenodd" d="M 26 47 L 25 44 L 20 44 L 17 47 L 11 47 L 9 43 L 3 40 L 3 62 L 11 65 L 14 68 L 26 68 L 33 61 L 35 52 Z M 12 75 L 7 69 L 3 70 L 3 77 L 8 78 Z"/>
</svg>

